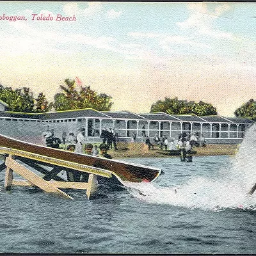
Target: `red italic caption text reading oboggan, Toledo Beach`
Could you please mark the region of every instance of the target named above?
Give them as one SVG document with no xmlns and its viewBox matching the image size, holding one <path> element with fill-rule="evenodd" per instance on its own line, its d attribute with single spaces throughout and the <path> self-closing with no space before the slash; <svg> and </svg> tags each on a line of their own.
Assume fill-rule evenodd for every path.
<svg viewBox="0 0 256 256">
<path fill-rule="evenodd" d="M 54 15 L 55 16 L 55 15 Z M 73 16 L 63 16 L 61 14 L 57 14 L 56 17 L 52 16 L 51 14 L 47 14 L 47 15 L 43 15 L 41 14 L 36 14 L 36 13 L 32 13 L 30 19 L 31 20 L 35 20 L 35 21 L 76 21 L 76 15 Z M 8 20 L 8 21 L 17 21 L 17 20 L 28 20 L 25 16 L 15 16 L 15 15 L 6 15 L 5 13 L 3 13 L 3 15 L 0 15 L 0 22 L 1 20 Z"/>
</svg>

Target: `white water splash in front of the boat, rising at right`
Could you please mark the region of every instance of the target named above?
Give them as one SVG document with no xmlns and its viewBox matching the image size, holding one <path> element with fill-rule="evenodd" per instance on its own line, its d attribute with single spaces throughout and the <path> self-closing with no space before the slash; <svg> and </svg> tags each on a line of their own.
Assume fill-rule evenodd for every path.
<svg viewBox="0 0 256 256">
<path fill-rule="evenodd" d="M 225 175 L 216 179 L 196 177 L 187 184 L 172 187 L 156 183 L 125 182 L 129 193 L 152 204 L 170 204 L 205 211 L 224 209 L 256 210 L 256 192 L 248 192 L 256 182 L 256 126 L 246 131 L 239 152 L 234 157 Z M 222 170 L 220 170 L 221 172 Z"/>
</svg>

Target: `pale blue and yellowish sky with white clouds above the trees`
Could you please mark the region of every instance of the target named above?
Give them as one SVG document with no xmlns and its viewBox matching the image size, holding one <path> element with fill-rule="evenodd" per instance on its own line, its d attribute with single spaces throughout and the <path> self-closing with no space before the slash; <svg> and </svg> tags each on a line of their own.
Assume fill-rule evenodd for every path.
<svg viewBox="0 0 256 256">
<path fill-rule="evenodd" d="M 79 77 L 83 86 L 111 95 L 111 110 L 134 113 L 178 97 L 211 103 L 231 117 L 256 100 L 256 3 L 0 6 L 3 86 L 26 86 L 34 97 L 44 92 L 52 101 L 66 78 Z M 10 21 L 12 16 L 24 20 Z"/>
</svg>

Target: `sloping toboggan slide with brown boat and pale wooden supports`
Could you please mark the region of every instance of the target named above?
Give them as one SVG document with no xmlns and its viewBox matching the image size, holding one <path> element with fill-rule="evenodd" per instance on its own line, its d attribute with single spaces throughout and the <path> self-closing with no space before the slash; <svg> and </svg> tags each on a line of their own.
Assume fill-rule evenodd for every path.
<svg viewBox="0 0 256 256">
<path fill-rule="evenodd" d="M 0 135 L 0 154 L 4 156 L 0 172 L 6 170 L 4 188 L 10 189 L 14 185 L 36 186 L 48 193 L 71 199 L 74 198 L 61 188 L 86 189 L 86 195 L 90 198 L 97 190 L 97 177 L 115 179 L 123 184 L 125 181 L 152 182 L 161 174 L 159 168 L 77 154 L 3 135 Z M 67 173 L 67 179 L 59 175 L 62 171 Z M 24 179 L 14 180 L 13 172 Z M 86 177 L 86 180 L 81 177 Z"/>
</svg>

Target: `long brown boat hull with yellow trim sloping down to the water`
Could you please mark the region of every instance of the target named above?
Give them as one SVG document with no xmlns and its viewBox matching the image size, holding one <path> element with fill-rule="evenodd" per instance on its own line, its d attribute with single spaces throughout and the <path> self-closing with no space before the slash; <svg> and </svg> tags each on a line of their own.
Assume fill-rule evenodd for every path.
<svg viewBox="0 0 256 256">
<path fill-rule="evenodd" d="M 70 151 L 49 148 L 0 135 L 0 154 L 13 154 L 46 163 L 58 164 L 74 170 L 85 171 L 94 168 L 95 174 L 104 177 L 115 175 L 120 181 L 152 182 L 161 170 L 139 164 L 125 163 L 113 159 L 77 154 Z M 92 173 L 93 173 L 92 172 Z"/>
</svg>

